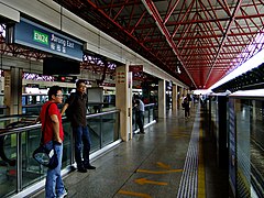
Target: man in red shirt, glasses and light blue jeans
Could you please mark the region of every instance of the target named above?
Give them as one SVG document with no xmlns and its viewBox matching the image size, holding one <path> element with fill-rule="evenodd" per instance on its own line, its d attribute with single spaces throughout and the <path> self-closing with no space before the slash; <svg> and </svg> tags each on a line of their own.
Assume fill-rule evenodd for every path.
<svg viewBox="0 0 264 198">
<path fill-rule="evenodd" d="M 57 153 L 58 165 L 54 169 L 47 169 L 45 194 L 46 198 L 65 197 L 67 191 L 61 175 L 62 160 L 63 160 L 63 141 L 64 130 L 62 124 L 62 116 L 57 108 L 57 103 L 63 102 L 62 88 L 53 86 L 48 90 L 48 101 L 46 101 L 41 110 L 40 117 L 36 119 L 41 121 L 43 132 L 43 143 L 47 148 L 54 147 Z"/>
</svg>

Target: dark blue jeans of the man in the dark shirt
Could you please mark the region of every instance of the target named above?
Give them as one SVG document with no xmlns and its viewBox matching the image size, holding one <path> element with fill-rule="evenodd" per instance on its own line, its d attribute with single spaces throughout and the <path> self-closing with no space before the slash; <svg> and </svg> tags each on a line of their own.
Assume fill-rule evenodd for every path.
<svg viewBox="0 0 264 198">
<path fill-rule="evenodd" d="M 89 154 L 90 154 L 90 134 L 88 127 L 77 127 L 73 128 L 74 136 L 75 136 L 75 161 L 77 163 L 77 167 L 89 166 Z M 84 144 L 84 145 L 82 145 Z M 82 158 L 81 161 L 81 151 Z"/>
</svg>

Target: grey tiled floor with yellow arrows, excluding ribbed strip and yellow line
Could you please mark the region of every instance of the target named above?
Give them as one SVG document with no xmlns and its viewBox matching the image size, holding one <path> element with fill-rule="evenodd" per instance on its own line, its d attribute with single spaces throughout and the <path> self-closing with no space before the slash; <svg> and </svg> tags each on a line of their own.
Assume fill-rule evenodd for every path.
<svg viewBox="0 0 264 198">
<path fill-rule="evenodd" d="M 196 109 L 185 119 L 183 110 L 169 112 L 136 134 L 132 141 L 122 142 L 92 162 L 96 170 L 73 172 L 64 178 L 68 197 L 76 198 L 175 198 L 193 132 Z M 228 178 L 217 168 L 210 139 L 204 139 L 206 195 L 208 198 L 228 196 Z M 207 157 L 210 157 L 209 161 Z M 219 194 L 221 191 L 222 194 Z M 44 197 L 40 193 L 34 197 Z"/>
</svg>

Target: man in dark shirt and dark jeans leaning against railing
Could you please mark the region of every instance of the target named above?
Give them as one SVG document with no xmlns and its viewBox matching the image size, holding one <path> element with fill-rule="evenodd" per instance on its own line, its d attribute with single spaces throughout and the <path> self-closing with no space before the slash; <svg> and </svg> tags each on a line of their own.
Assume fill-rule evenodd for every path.
<svg viewBox="0 0 264 198">
<path fill-rule="evenodd" d="M 86 81 L 79 79 L 76 82 L 76 92 L 70 94 L 62 109 L 62 114 L 64 114 L 67 108 L 70 109 L 69 121 L 75 138 L 75 161 L 77 170 L 80 173 L 87 173 L 87 169 L 96 169 L 89 160 L 91 140 L 86 120 L 87 101 Z"/>
</svg>

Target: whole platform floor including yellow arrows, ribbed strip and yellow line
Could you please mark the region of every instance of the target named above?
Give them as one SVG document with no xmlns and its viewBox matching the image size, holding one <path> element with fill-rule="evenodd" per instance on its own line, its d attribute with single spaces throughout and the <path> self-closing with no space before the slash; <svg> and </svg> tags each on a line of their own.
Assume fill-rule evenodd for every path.
<svg viewBox="0 0 264 198">
<path fill-rule="evenodd" d="M 96 170 L 64 177 L 67 197 L 173 198 L 229 197 L 228 170 L 217 166 L 216 145 L 198 105 L 190 118 L 184 110 L 167 113 L 145 134 L 122 142 L 92 158 Z M 44 197 L 44 190 L 33 196 Z"/>
</svg>

